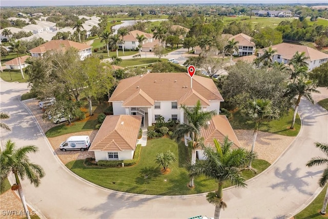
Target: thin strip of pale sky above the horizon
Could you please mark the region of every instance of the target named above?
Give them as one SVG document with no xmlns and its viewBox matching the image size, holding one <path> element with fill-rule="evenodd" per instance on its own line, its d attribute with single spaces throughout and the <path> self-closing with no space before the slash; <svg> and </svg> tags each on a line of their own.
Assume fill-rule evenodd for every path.
<svg viewBox="0 0 328 219">
<path fill-rule="evenodd" d="M 0 0 L 0 7 L 7 6 L 65 6 L 65 5 L 118 5 L 118 4 L 196 4 L 196 3 L 328 3 L 328 0 Z"/>
</svg>

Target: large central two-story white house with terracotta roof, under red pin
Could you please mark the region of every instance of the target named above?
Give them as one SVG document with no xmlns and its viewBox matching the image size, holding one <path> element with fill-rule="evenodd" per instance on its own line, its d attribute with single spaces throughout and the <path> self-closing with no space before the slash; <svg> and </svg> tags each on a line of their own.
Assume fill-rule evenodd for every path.
<svg viewBox="0 0 328 219">
<path fill-rule="evenodd" d="M 203 110 L 219 113 L 223 98 L 211 78 L 187 73 L 147 73 L 122 79 L 109 99 L 114 115 L 141 115 L 144 127 L 156 123 L 160 116 L 165 121 L 186 117 L 181 105 L 193 107 L 200 100 Z"/>
</svg>

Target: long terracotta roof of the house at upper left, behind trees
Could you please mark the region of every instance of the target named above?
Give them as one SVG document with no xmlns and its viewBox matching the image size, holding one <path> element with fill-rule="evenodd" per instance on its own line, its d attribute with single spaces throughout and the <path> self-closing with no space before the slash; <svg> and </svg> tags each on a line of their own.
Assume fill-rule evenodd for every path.
<svg viewBox="0 0 328 219">
<path fill-rule="evenodd" d="M 76 42 L 73 42 L 73 41 L 61 41 L 61 40 L 55 41 L 55 40 L 52 40 L 52 41 L 48 41 L 45 44 L 42 44 L 38 47 L 35 47 L 35 48 L 31 49 L 29 52 L 32 52 L 32 53 L 45 53 L 48 50 L 57 50 L 57 49 L 65 50 L 65 48 L 70 48 L 70 47 L 74 47 L 74 48 L 78 49 L 79 51 L 91 48 L 91 46 L 76 43 Z"/>
</svg>

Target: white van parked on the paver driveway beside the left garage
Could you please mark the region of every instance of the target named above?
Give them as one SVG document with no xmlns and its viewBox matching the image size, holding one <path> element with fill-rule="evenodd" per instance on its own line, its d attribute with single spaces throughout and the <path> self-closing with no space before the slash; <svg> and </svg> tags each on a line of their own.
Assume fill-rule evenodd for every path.
<svg viewBox="0 0 328 219">
<path fill-rule="evenodd" d="M 59 149 L 62 151 L 66 150 L 87 150 L 91 143 L 88 135 L 76 135 L 70 136 L 65 142 L 62 142 Z"/>
</svg>

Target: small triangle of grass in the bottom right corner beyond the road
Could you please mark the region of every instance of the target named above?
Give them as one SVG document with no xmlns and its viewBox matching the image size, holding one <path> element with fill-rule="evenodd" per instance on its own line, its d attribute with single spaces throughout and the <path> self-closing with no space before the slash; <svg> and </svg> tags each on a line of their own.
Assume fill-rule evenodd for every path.
<svg viewBox="0 0 328 219">
<path fill-rule="evenodd" d="M 304 218 L 327 218 L 327 214 L 321 215 L 320 210 L 322 208 L 324 195 L 326 193 L 327 186 L 320 192 L 320 194 L 315 198 L 315 200 L 304 210 L 299 212 L 294 216 L 295 219 L 304 219 Z"/>
</svg>

